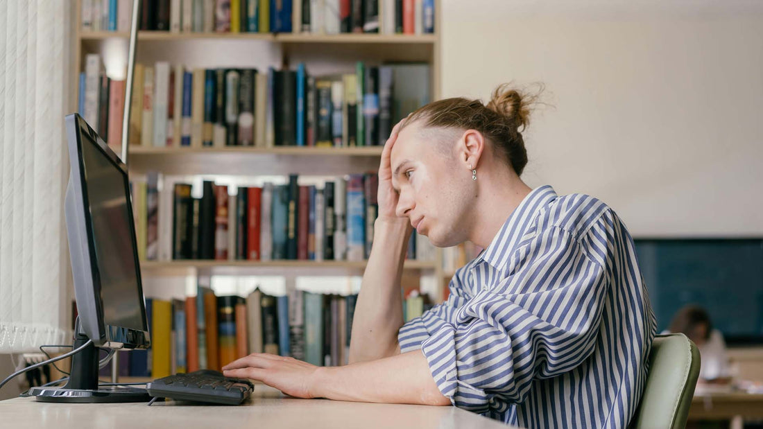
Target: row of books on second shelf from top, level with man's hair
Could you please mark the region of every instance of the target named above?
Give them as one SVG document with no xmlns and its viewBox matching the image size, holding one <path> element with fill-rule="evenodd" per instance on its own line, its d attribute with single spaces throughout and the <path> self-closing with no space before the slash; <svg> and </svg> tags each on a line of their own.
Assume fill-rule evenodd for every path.
<svg viewBox="0 0 763 429">
<path fill-rule="evenodd" d="M 108 78 L 98 54 L 80 75 L 79 111 L 112 147 L 121 146 L 124 81 Z M 430 66 L 356 63 L 353 72 L 187 69 L 136 64 L 130 144 L 144 146 L 375 146 L 398 120 L 430 102 Z"/>
</svg>

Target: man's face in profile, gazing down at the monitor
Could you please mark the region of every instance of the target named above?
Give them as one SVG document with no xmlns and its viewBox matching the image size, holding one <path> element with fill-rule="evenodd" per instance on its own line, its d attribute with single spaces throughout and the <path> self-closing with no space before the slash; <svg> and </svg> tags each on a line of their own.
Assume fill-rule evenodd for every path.
<svg viewBox="0 0 763 429">
<path fill-rule="evenodd" d="M 462 219 L 471 172 L 459 168 L 452 136 L 413 123 L 398 135 L 390 155 L 392 185 L 399 193 L 395 213 L 438 247 L 456 245 L 466 236 Z"/>
</svg>

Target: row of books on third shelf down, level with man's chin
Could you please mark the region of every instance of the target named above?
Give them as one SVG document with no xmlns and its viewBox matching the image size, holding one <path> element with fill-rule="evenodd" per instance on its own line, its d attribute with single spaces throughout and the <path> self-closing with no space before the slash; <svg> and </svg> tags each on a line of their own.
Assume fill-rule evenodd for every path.
<svg viewBox="0 0 763 429">
<path fill-rule="evenodd" d="M 150 173 L 131 184 L 141 260 L 364 261 L 378 214 L 375 173 L 349 174 L 322 187 L 266 182 L 228 187 L 164 183 Z M 407 258 L 434 261 L 429 239 L 411 235 Z"/>
</svg>

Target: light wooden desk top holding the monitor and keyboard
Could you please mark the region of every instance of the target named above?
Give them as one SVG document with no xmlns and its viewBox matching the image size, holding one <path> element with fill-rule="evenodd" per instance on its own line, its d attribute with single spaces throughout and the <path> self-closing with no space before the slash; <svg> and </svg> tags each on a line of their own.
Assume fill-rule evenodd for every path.
<svg viewBox="0 0 763 429">
<path fill-rule="evenodd" d="M 367 404 L 294 399 L 269 386 L 257 385 L 250 402 L 237 407 L 188 405 L 187 402 L 139 404 L 53 404 L 34 398 L 0 402 L 0 426 L 55 427 L 56 429 L 143 429 L 181 427 L 220 429 L 224 424 L 242 427 L 340 429 L 344 427 L 501 428 L 508 426 L 456 407 Z"/>
</svg>

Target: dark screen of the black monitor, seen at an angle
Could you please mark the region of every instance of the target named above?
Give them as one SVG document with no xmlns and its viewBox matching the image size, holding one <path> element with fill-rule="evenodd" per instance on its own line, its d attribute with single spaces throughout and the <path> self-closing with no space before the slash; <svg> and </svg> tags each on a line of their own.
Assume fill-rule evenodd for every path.
<svg viewBox="0 0 763 429">
<path fill-rule="evenodd" d="M 103 320 L 106 325 L 146 330 L 127 204 L 130 197 L 127 176 L 85 133 L 82 133 L 82 161 Z"/>
</svg>

